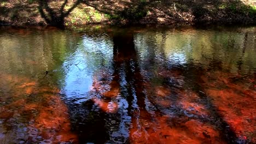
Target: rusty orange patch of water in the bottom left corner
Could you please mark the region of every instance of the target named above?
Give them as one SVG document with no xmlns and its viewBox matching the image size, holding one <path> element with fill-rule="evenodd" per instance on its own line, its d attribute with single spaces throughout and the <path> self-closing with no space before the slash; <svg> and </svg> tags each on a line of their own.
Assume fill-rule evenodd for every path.
<svg viewBox="0 0 256 144">
<path fill-rule="evenodd" d="M 1 106 L 0 109 L 0 118 L 4 119 L 4 127 L 9 134 L 5 135 L 5 142 L 14 142 L 10 135 L 25 142 L 77 141 L 77 136 L 71 132 L 68 109 L 57 94 L 59 89 L 42 86 L 38 81 L 22 76 L 4 74 L 0 77 L 1 80 L 4 80 L 1 81 L 0 86 L 5 88 L 5 93 L 1 98 L 6 98 L 5 101 L 9 99 L 8 104 Z M 8 123 L 12 121 L 11 119 L 16 120 Z M 15 134 L 13 125 L 15 123 L 25 124 L 27 129 L 24 131 L 25 137 L 19 137 L 20 134 Z M 34 129 L 33 133 L 30 131 L 31 129 Z M 37 137 L 39 138 L 37 139 Z"/>
</svg>

